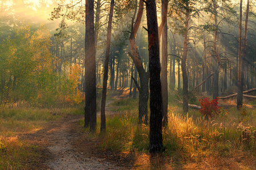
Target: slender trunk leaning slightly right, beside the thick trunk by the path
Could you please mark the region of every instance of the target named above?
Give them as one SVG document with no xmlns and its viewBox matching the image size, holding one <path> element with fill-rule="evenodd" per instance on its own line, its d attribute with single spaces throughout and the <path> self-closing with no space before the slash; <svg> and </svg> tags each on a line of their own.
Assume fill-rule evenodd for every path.
<svg viewBox="0 0 256 170">
<path fill-rule="evenodd" d="M 102 98 L 101 98 L 101 131 L 106 130 L 106 88 L 108 84 L 108 70 L 109 70 L 109 56 L 110 56 L 110 41 L 111 41 L 111 28 L 112 28 L 112 19 L 114 11 L 114 0 L 111 1 L 110 12 L 109 12 L 109 23 L 108 23 L 108 33 L 106 41 L 106 58 L 104 66 L 104 76 L 103 76 L 103 88 L 102 88 Z"/>
</svg>

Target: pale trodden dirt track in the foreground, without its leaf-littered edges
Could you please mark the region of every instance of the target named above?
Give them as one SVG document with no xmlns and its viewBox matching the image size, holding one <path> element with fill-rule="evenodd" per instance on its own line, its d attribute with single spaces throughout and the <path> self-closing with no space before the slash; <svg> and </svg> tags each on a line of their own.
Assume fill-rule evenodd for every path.
<svg viewBox="0 0 256 170">
<path fill-rule="evenodd" d="M 48 142 L 50 159 L 46 161 L 48 169 L 119 169 L 104 159 L 92 158 L 76 146 L 82 136 L 77 121 L 82 117 L 67 117 L 55 124 L 44 135 Z"/>
</svg>

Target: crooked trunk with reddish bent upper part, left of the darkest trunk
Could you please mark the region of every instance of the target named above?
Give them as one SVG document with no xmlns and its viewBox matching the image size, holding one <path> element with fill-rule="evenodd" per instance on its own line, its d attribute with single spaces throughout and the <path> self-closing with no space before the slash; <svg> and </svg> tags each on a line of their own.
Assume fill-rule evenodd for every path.
<svg viewBox="0 0 256 170">
<path fill-rule="evenodd" d="M 147 124 L 147 101 L 148 101 L 148 73 L 144 70 L 141 57 L 139 56 L 139 50 L 136 43 L 137 31 L 139 29 L 139 24 L 141 24 L 142 14 L 143 14 L 143 1 L 139 1 L 139 9 L 137 14 L 137 19 L 133 25 L 130 35 L 130 46 L 131 52 L 129 56 L 133 59 L 135 67 L 139 74 L 139 79 L 141 82 L 141 88 L 139 90 L 139 124 Z"/>
</svg>

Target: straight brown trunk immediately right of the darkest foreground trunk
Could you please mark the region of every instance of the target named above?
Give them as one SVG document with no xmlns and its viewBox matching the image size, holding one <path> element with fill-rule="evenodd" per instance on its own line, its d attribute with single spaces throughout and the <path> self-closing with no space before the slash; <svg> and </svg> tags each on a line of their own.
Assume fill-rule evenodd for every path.
<svg viewBox="0 0 256 170">
<path fill-rule="evenodd" d="M 162 18 L 167 18 L 167 0 L 162 0 Z M 164 24 L 163 32 L 162 32 L 162 72 L 161 72 L 161 80 L 162 80 L 162 96 L 163 96 L 163 126 L 167 125 L 168 122 L 168 82 L 167 82 L 167 63 L 168 63 L 168 49 L 167 49 L 167 22 L 163 21 Z"/>
</svg>

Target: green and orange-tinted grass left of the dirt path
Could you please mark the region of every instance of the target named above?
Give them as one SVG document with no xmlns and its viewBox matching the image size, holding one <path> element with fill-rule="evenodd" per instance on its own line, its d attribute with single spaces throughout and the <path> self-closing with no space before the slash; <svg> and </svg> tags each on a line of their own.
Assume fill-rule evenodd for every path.
<svg viewBox="0 0 256 170">
<path fill-rule="evenodd" d="M 0 169 L 37 169 L 41 154 L 38 146 L 20 134 L 44 128 L 46 122 L 67 114 L 83 114 L 82 105 L 69 108 L 29 108 L 9 105 L 0 109 Z"/>
</svg>

